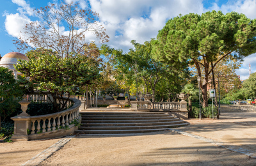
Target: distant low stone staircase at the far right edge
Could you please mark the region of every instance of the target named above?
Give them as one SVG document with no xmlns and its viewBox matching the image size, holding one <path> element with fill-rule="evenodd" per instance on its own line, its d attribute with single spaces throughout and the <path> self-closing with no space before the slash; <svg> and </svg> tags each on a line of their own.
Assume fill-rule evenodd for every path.
<svg viewBox="0 0 256 166">
<path fill-rule="evenodd" d="M 253 105 L 220 105 L 220 112 L 256 112 Z"/>
</svg>

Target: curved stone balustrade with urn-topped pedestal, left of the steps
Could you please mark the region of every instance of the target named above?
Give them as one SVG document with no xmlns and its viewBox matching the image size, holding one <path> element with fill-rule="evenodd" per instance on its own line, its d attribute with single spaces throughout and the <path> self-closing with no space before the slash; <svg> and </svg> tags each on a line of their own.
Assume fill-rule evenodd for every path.
<svg viewBox="0 0 256 166">
<path fill-rule="evenodd" d="M 25 96 L 24 100 L 19 102 L 22 105 L 23 112 L 18 116 L 12 117 L 14 121 L 13 141 L 62 137 L 70 135 L 77 130 L 77 124 L 81 122 L 81 116 L 79 114 L 80 100 L 69 98 L 67 107 L 74 105 L 61 112 L 42 116 L 29 116 L 26 113 L 28 104 L 30 103 L 28 98 L 30 99 L 30 96 Z M 47 102 L 46 98 L 45 100 Z"/>
</svg>

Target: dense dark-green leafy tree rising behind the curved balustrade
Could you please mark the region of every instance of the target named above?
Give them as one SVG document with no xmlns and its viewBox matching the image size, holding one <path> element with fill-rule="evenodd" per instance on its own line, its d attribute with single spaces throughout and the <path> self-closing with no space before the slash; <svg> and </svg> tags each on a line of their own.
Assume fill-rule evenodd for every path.
<svg viewBox="0 0 256 166">
<path fill-rule="evenodd" d="M 30 77 L 35 89 L 49 91 L 53 97 L 53 101 L 50 100 L 57 111 L 65 108 L 67 100 L 64 100 L 64 94 L 69 98 L 71 92 L 92 84 L 93 80 L 99 77 L 99 63 L 79 54 L 73 54 L 68 58 L 42 54 L 36 59 L 30 59 L 29 62 L 20 62 L 15 66 L 16 70 Z M 58 107 L 58 103 L 61 107 Z"/>
</svg>

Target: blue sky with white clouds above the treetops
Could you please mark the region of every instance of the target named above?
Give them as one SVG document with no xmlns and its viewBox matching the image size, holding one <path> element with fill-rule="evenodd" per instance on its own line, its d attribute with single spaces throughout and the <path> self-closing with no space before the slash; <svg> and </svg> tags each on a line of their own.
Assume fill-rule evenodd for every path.
<svg viewBox="0 0 256 166">
<path fill-rule="evenodd" d="M 236 11 L 250 19 L 256 19 L 256 0 L 66 0 L 78 2 L 81 8 L 91 8 L 99 13 L 99 21 L 110 37 L 108 45 L 127 52 L 131 40 L 144 43 L 156 38 L 166 20 L 180 13 L 202 14 L 206 11 L 221 10 L 223 13 Z M 34 8 L 47 6 L 55 0 L 1 0 L 0 54 L 4 56 L 15 50 L 13 39 L 19 37 L 23 27 L 37 20 Z M 88 34 L 88 41 L 94 40 Z M 254 61 L 255 60 L 255 61 Z M 237 70 L 241 79 L 248 79 L 248 64 L 252 73 L 256 72 L 256 54 L 244 58 L 243 65 Z"/>
</svg>

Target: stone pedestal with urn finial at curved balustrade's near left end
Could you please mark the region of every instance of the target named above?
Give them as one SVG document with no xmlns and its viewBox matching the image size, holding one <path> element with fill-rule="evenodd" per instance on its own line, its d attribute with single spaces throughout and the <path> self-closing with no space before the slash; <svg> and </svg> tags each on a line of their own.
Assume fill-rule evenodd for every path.
<svg viewBox="0 0 256 166">
<path fill-rule="evenodd" d="M 21 105 L 22 113 L 18 116 L 11 117 L 14 121 L 14 134 L 12 136 L 13 141 L 28 140 L 27 130 L 31 130 L 31 121 L 29 114 L 26 113 L 28 109 L 29 101 L 26 95 L 23 96 L 23 100 L 19 102 Z"/>
</svg>

